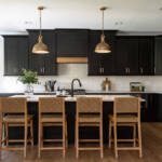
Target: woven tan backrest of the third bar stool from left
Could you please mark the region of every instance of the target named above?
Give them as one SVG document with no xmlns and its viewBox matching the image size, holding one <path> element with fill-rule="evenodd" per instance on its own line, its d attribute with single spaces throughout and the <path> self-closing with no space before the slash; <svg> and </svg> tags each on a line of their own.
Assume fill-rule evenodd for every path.
<svg viewBox="0 0 162 162">
<path fill-rule="evenodd" d="M 99 97 L 77 98 L 78 113 L 103 113 L 103 100 Z"/>
</svg>

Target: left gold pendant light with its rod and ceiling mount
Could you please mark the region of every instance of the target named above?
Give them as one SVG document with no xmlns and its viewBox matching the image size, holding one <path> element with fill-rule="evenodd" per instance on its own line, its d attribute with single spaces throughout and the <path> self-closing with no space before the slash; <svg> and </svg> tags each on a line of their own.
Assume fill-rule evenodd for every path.
<svg viewBox="0 0 162 162">
<path fill-rule="evenodd" d="M 42 36 L 42 22 L 41 22 L 41 11 L 44 9 L 44 6 L 39 6 L 38 10 L 40 11 L 40 32 L 38 37 L 38 43 L 36 43 L 32 48 L 32 53 L 35 54 L 48 54 L 48 45 L 43 43 L 43 36 Z"/>
</svg>

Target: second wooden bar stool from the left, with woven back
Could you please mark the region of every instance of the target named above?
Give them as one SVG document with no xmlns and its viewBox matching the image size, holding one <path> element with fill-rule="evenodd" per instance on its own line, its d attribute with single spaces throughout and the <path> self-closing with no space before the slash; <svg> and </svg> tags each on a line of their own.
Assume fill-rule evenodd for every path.
<svg viewBox="0 0 162 162">
<path fill-rule="evenodd" d="M 44 139 L 44 126 L 60 126 L 62 139 Z M 63 97 L 40 97 L 39 98 L 39 150 L 38 157 L 41 157 L 42 150 L 63 150 L 65 157 L 67 147 L 67 121 L 65 114 L 65 100 Z M 44 141 L 62 143 L 62 146 L 44 146 Z"/>
</svg>

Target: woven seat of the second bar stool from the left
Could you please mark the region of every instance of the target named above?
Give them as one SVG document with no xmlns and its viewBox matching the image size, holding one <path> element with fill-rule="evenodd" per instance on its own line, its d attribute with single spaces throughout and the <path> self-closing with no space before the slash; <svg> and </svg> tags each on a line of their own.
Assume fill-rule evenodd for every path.
<svg viewBox="0 0 162 162">
<path fill-rule="evenodd" d="M 63 114 L 42 114 L 42 123 L 63 123 Z"/>
</svg>

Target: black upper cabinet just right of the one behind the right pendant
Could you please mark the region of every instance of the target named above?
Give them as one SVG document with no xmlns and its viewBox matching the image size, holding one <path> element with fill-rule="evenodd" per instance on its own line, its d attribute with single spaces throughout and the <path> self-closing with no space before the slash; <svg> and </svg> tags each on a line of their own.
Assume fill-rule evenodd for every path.
<svg viewBox="0 0 162 162">
<path fill-rule="evenodd" d="M 138 39 L 136 37 L 117 37 L 114 69 L 117 76 L 138 75 Z"/>
</svg>

